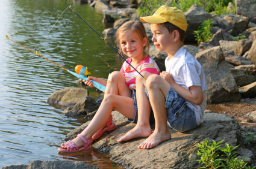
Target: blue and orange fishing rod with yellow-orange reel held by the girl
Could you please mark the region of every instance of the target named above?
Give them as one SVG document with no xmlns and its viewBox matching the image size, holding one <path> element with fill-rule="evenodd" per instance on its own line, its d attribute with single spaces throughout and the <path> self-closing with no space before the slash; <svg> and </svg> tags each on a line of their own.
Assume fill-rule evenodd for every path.
<svg viewBox="0 0 256 169">
<path fill-rule="evenodd" d="M 13 41 L 13 40 L 11 40 L 10 38 L 8 38 L 7 35 L 5 35 L 5 38 L 7 38 L 7 39 L 10 40 L 10 41 Z M 16 41 L 13 41 L 13 42 L 16 43 Z M 19 44 L 19 43 L 16 43 L 16 44 L 18 44 L 19 46 L 22 46 L 22 45 Z M 24 48 L 27 49 L 27 50 L 30 50 L 30 49 L 28 49 L 28 48 L 25 47 L 25 46 L 22 46 L 22 47 L 24 47 Z M 34 51 L 30 50 L 30 52 L 33 52 L 33 53 L 35 53 L 36 55 L 41 56 L 41 55 L 39 55 L 39 53 L 38 53 L 37 51 L 34 52 Z M 41 57 L 42 57 L 43 59 L 46 59 L 46 60 L 49 61 L 49 62 L 52 62 L 52 61 L 50 61 L 49 59 L 47 59 L 47 58 L 45 58 L 45 57 L 43 57 L 43 56 L 41 56 Z M 52 64 L 55 64 L 55 63 L 52 62 Z M 60 67 L 60 68 L 63 68 L 63 67 L 61 67 L 61 66 L 58 65 L 58 64 L 55 64 L 55 65 L 57 65 L 57 66 Z M 63 68 L 63 70 L 66 70 L 66 71 L 69 72 L 70 74 L 73 74 L 73 76 L 76 76 L 76 77 L 78 77 L 78 78 L 80 78 L 80 79 L 83 79 L 83 80 L 87 80 L 87 77 L 86 77 L 86 76 L 88 76 L 88 75 L 90 74 L 89 71 L 87 70 L 87 67 L 84 67 L 84 66 L 82 66 L 82 65 L 77 65 L 77 66 L 75 67 L 76 73 L 74 73 L 74 72 L 72 72 L 72 71 L 70 71 L 70 70 L 67 70 L 67 69 L 65 69 L 65 68 Z M 101 85 L 101 83 L 95 82 L 95 81 L 93 81 L 93 80 L 92 80 L 92 84 L 93 84 L 93 86 L 95 86 L 97 89 L 101 90 L 102 92 L 105 92 L 106 86 Z"/>
</svg>

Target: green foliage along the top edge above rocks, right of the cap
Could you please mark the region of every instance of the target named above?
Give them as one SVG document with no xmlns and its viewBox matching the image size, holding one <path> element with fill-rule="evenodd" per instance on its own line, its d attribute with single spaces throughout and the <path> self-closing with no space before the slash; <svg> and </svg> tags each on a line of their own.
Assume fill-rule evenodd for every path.
<svg viewBox="0 0 256 169">
<path fill-rule="evenodd" d="M 183 12 L 186 12 L 193 4 L 198 4 L 208 13 L 213 12 L 213 14 L 221 15 L 236 12 L 234 5 L 234 10 L 226 11 L 229 2 L 234 4 L 234 0 L 173 0 L 171 5 L 172 7 L 177 7 Z"/>
</svg>

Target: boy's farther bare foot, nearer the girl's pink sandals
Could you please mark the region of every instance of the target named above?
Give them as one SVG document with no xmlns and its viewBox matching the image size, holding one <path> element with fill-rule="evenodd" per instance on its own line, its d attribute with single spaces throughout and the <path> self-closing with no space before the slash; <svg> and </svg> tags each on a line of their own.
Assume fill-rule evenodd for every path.
<svg viewBox="0 0 256 169">
<path fill-rule="evenodd" d="M 127 141 L 131 140 L 133 138 L 138 138 L 138 137 L 149 137 L 149 135 L 152 134 L 152 130 L 150 126 L 135 126 L 133 129 L 130 131 L 126 132 L 125 135 L 120 137 L 117 142 L 121 143 L 122 141 Z"/>
</svg>

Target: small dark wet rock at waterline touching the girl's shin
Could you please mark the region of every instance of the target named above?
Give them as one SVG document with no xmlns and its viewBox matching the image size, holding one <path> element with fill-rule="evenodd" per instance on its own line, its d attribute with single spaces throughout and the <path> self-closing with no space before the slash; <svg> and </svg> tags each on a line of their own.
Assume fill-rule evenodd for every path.
<svg viewBox="0 0 256 169">
<path fill-rule="evenodd" d="M 95 98 L 91 96 L 84 97 L 84 101 L 75 105 L 71 105 L 64 110 L 65 116 L 85 116 L 98 110 L 99 104 L 95 101 Z"/>
</svg>

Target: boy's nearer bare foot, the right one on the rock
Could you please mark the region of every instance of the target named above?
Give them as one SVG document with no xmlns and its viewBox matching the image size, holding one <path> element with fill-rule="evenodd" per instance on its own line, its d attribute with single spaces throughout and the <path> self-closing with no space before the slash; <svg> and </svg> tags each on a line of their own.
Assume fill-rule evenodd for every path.
<svg viewBox="0 0 256 169">
<path fill-rule="evenodd" d="M 169 131 L 164 133 L 154 131 L 153 134 L 151 134 L 145 141 L 140 143 L 140 146 L 138 146 L 138 148 L 151 149 L 152 147 L 157 146 L 163 141 L 170 140 L 170 138 L 172 138 L 172 136 L 170 135 Z"/>
</svg>

